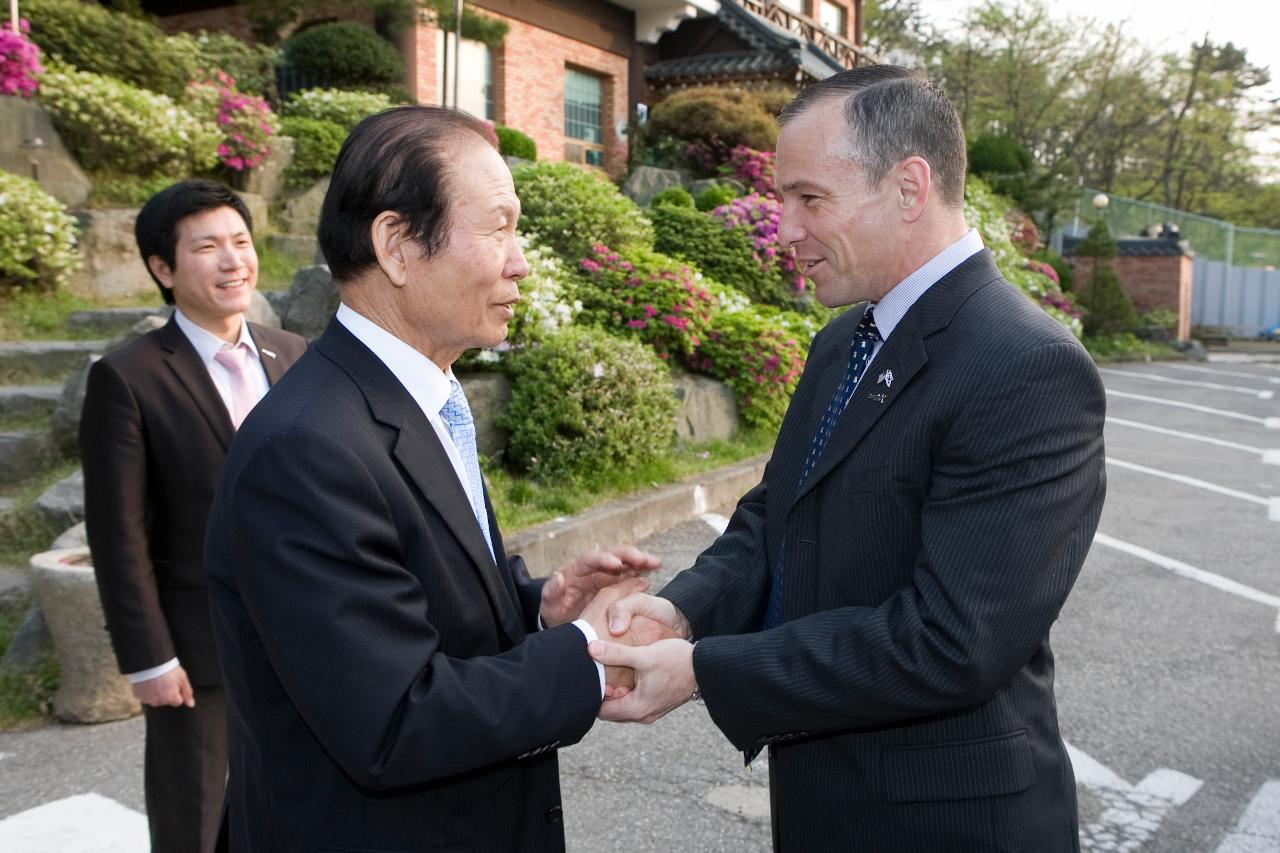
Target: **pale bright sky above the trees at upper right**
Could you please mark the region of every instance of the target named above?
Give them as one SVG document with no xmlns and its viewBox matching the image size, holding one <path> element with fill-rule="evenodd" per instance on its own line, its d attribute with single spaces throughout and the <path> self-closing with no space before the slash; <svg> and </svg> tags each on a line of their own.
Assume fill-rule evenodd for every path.
<svg viewBox="0 0 1280 853">
<path fill-rule="evenodd" d="M 920 0 L 924 17 L 943 26 L 978 5 L 982 0 Z M 1280 97 L 1280 4 L 1274 0 L 1050 0 L 1050 9 L 1064 20 L 1128 22 L 1128 33 L 1158 53 L 1185 53 L 1207 32 L 1211 41 L 1230 41 L 1245 49 L 1251 63 L 1268 68 L 1263 93 Z M 1249 141 L 1258 165 L 1280 174 L 1280 128 Z"/>
</svg>

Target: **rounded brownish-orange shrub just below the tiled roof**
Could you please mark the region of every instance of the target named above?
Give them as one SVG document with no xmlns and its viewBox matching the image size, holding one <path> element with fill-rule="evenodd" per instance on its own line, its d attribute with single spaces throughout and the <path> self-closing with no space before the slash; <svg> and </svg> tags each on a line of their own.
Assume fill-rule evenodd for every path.
<svg viewBox="0 0 1280 853">
<path fill-rule="evenodd" d="M 704 86 L 676 92 L 654 106 L 648 133 L 701 145 L 722 163 L 739 145 L 772 151 L 778 123 L 755 95 Z"/>
</svg>

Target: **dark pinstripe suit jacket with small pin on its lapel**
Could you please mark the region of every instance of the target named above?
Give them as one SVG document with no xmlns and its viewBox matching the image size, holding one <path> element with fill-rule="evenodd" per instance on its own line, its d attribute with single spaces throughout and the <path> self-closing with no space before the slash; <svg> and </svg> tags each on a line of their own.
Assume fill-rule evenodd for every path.
<svg viewBox="0 0 1280 853">
<path fill-rule="evenodd" d="M 776 849 L 1075 850 L 1048 634 L 1102 508 L 1097 370 L 982 251 L 908 311 L 799 487 L 861 314 L 814 338 L 763 482 L 662 593 L 703 638 L 699 688 L 736 747 L 771 747 Z"/>
</svg>

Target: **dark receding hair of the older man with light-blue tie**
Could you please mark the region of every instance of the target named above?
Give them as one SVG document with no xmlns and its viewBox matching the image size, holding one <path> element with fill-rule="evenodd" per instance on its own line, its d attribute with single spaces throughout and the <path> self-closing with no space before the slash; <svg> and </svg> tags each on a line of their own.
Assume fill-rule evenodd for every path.
<svg viewBox="0 0 1280 853">
<path fill-rule="evenodd" d="M 348 282 L 378 263 L 369 231 L 387 210 L 404 219 L 424 257 L 440 250 L 452 206 L 451 145 L 470 134 L 493 145 L 484 122 L 443 106 L 397 106 L 356 126 L 320 209 L 320 251 L 334 280 Z"/>
</svg>

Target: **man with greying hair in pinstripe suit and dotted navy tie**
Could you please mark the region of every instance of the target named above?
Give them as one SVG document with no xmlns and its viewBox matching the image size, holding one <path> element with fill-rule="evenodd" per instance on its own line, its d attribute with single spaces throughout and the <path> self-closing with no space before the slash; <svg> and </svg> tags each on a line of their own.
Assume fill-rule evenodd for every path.
<svg viewBox="0 0 1280 853">
<path fill-rule="evenodd" d="M 594 643 L 637 674 L 600 716 L 700 693 L 748 761 L 769 749 L 787 853 L 1076 850 L 1048 635 L 1102 508 L 1098 374 L 965 225 L 941 90 L 852 69 L 782 122 L 781 234 L 824 305 L 865 305 L 814 338 L 724 534 L 614 605 L 614 634 L 645 613 L 689 639 Z"/>
</svg>

